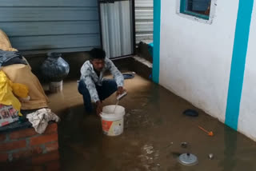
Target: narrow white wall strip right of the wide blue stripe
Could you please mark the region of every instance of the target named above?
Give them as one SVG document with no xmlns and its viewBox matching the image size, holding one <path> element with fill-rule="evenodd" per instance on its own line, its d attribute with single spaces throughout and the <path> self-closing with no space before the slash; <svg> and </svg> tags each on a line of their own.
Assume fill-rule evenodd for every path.
<svg viewBox="0 0 256 171">
<path fill-rule="evenodd" d="M 238 119 L 238 131 L 256 141 L 256 3 L 250 25 L 246 70 Z"/>
</svg>

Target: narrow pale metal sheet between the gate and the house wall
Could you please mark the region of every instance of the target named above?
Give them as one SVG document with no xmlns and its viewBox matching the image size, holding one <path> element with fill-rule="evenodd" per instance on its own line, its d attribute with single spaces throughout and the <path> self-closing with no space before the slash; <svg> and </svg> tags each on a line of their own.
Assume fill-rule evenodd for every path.
<svg viewBox="0 0 256 171">
<path fill-rule="evenodd" d="M 153 41 L 153 0 L 135 0 L 136 43 Z"/>
</svg>

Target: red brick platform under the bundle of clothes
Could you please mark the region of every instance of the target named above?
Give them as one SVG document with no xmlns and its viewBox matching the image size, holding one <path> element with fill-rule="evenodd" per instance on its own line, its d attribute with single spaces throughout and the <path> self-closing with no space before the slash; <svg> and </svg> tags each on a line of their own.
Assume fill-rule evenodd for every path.
<svg viewBox="0 0 256 171">
<path fill-rule="evenodd" d="M 59 169 L 58 125 L 50 123 L 45 133 L 38 134 L 34 128 L 13 129 L 0 133 L 1 170 Z"/>
</svg>

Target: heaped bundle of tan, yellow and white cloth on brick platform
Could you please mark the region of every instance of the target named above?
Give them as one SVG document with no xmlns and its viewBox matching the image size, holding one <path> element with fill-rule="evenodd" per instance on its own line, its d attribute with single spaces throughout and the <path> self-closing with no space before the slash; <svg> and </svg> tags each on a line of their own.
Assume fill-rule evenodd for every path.
<svg viewBox="0 0 256 171">
<path fill-rule="evenodd" d="M 14 49 L 0 30 L 0 127 L 26 117 L 38 133 L 43 133 L 48 121 L 59 121 L 48 108 L 48 98 L 38 78 L 22 54 Z M 28 113 L 27 111 L 33 110 Z M 26 111 L 26 116 L 22 114 Z"/>
</svg>

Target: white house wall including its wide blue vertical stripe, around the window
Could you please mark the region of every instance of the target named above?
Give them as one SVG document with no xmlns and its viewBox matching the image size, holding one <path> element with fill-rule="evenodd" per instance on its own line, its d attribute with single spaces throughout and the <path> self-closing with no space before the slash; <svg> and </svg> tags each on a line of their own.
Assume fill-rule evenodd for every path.
<svg viewBox="0 0 256 171">
<path fill-rule="evenodd" d="M 162 0 L 159 83 L 256 141 L 256 4 L 212 1 L 202 22 Z"/>
</svg>

